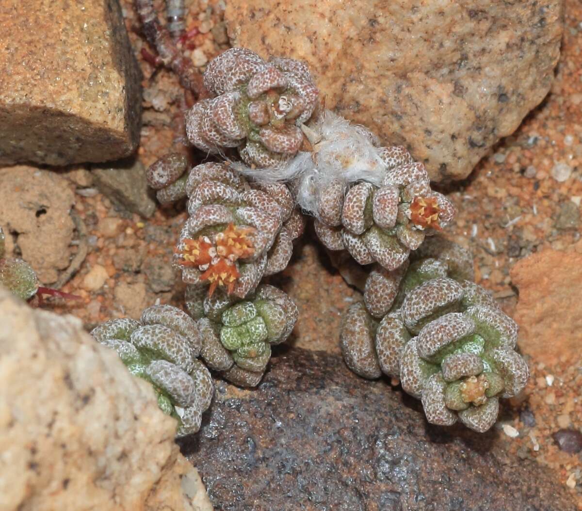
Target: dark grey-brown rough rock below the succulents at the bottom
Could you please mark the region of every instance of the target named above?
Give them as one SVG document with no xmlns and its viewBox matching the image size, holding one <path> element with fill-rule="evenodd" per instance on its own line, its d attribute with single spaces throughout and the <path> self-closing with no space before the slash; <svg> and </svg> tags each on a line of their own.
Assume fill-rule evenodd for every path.
<svg viewBox="0 0 582 511">
<path fill-rule="evenodd" d="M 223 511 L 574 511 L 535 462 L 490 431 L 429 426 L 386 381 L 339 356 L 293 349 L 255 391 L 218 387 L 210 420 L 182 451 Z"/>
</svg>

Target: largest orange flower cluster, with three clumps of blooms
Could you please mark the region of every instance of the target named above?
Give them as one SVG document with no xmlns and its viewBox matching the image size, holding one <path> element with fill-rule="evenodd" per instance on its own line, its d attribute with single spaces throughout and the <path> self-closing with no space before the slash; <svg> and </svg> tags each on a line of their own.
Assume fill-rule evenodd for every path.
<svg viewBox="0 0 582 511">
<path fill-rule="evenodd" d="M 217 286 L 225 286 L 230 294 L 236 279 L 240 277 L 235 261 L 253 255 L 253 243 L 247 236 L 254 232 L 253 228 L 229 223 L 225 230 L 214 235 L 214 240 L 208 236 L 198 236 L 197 240 L 185 239 L 180 264 L 197 267 L 203 272 L 200 280 L 210 282 L 210 296 Z"/>
</svg>

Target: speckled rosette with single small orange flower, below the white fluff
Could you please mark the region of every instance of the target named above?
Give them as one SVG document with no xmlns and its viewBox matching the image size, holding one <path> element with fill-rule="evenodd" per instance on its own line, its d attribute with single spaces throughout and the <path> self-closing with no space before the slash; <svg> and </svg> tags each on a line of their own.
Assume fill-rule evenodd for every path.
<svg viewBox="0 0 582 511">
<path fill-rule="evenodd" d="M 431 190 L 424 165 L 404 148 L 381 148 L 379 154 L 384 163 L 379 186 L 333 180 L 318 190 L 315 231 L 328 249 L 347 249 L 359 264 L 378 262 L 393 270 L 425 236 L 445 228 L 455 208 Z"/>
</svg>

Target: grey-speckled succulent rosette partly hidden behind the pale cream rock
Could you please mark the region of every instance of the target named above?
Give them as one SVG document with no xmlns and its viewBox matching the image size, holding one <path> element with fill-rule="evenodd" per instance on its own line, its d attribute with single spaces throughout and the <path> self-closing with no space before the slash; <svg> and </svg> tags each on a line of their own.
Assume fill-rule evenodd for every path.
<svg viewBox="0 0 582 511">
<path fill-rule="evenodd" d="M 200 429 L 214 384 L 197 360 L 202 339 L 196 321 L 179 308 L 154 305 L 143 311 L 140 321 L 106 321 L 91 335 L 114 349 L 132 374 L 152 384 L 160 409 L 178 421 L 178 437 Z"/>
</svg>

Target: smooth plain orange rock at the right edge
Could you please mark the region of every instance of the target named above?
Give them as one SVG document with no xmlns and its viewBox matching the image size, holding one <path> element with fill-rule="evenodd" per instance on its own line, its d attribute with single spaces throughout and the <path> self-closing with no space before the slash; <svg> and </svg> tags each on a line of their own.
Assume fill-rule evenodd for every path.
<svg viewBox="0 0 582 511">
<path fill-rule="evenodd" d="M 544 250 L 517 262 L 510 275 L 519 289 L 514 320 L 521 351 L 546 365 L 579 355 L 582 254 Z"/>
</svg>

